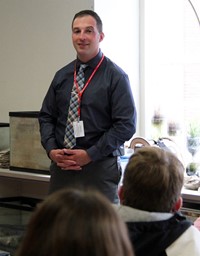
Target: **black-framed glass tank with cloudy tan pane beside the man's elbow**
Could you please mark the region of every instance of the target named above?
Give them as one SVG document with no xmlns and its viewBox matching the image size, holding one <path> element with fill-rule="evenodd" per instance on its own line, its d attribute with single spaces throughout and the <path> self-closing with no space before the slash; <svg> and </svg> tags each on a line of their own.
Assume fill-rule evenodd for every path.
<svg viewBox="0 0 200 256">
<path fill-rule="evenodd" d="M 10 112 L 10 170 L 48 173 L 50 159 L 41 145 L 37 111 Z"/>
</svg>

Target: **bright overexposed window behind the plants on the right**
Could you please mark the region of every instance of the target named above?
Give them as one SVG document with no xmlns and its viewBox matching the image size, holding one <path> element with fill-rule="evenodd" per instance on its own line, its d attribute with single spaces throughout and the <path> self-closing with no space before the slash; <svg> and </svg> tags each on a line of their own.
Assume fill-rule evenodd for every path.
<svg viewBox="0 0 200 256">
<path fill-rule="evenodd" d="M 188 158 L 188 125 L 193 120 L 200 121 L 200 24 L 196 15 L 200 2 L 144 0 L 142 3 L 143 136 L 169 137 L 172 128 L 177 127 L 173 139 Z M 152 120 L 158 121 L 159 117 L 162 125 L 153 125 Z"/>
</svg>

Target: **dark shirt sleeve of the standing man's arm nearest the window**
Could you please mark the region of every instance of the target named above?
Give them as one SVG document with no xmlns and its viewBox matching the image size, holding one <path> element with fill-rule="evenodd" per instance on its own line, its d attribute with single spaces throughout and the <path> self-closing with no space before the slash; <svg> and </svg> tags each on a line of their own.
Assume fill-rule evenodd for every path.
<svg viewBox="0 0 200 256">
<path fill-rule="evenodd" d="M 136 107 L 125 73 L 112 80 L 110 106 L 112 125 L 98 142 L 87 150 L 93 161 L 111 154 L 121 155 L 120 148 L 136 131 Z"/>
</svg>

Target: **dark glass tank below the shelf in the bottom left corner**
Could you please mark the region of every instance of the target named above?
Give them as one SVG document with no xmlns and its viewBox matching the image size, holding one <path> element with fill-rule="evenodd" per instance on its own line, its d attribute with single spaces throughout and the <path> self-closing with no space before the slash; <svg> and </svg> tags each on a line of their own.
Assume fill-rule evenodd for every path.
<svg viewBox="0 0 200 256">
<path fill-rule="evenodd" d="M 38 199 L 26 197 L 0 198 L 0 256 L 15 255 L 39 202 Z"/>
</svg>

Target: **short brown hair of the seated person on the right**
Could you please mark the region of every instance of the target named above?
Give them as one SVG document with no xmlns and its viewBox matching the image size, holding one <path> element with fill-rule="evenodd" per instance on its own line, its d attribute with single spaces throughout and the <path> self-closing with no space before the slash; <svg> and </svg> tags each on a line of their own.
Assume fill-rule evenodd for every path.
<svg viewBox="0 0 200 256">
<path fill-rule="evenodd" d="M 181 196 L 184 166 L 172 152 L 138 149 L 124 172 L 123 204 L 150 212 L 170 212 Z"/>
</svg>

